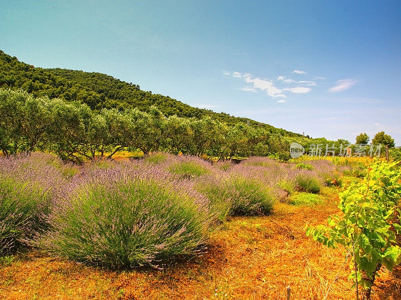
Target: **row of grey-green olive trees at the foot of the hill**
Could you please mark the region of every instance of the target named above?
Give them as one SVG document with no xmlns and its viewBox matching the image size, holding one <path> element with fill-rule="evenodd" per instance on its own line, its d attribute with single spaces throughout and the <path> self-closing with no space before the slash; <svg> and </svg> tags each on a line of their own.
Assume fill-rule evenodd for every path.
<svg viewBox="0 0 401 300">
<path fill-rule="evenodd" d="M 92 110 L 87 104 L 25 90 L 0 89 L 0 149 L 5 155 L 35 150 L 57 153 L 81 163 L 112 157 L 121 149 L 145 155 L 170 153 L 218 158 L 272 155 L 289 158 L 289 142 L 280 133 L 238 122 L 229 125 L 211 116 L 165 116 L 157 107 Z"/>
</svg>

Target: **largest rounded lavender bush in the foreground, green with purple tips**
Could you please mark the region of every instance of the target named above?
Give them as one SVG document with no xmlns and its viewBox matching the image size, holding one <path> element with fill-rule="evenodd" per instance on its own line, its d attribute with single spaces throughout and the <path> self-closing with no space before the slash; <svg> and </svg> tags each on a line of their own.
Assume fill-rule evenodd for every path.
<svg viewBox="0 0 401 300">
<path fill-rule="evenodd" d="M 54 232 L 42 247 L 119 268 L 191 254 L 205 242 L 210 215 L 190 196 L 140 176 L 103 181 L 76 188 L 69 207 L 55 212 Z"/>
</svg>

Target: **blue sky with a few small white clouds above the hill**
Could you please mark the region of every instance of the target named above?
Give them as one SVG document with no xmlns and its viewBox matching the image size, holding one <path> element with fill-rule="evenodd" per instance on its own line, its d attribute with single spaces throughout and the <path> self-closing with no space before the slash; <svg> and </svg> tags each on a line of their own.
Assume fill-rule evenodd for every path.
<svg viewBox="0 0 401 300">
<path fill-rule="evenodd" d="M 0 49 L 312 137 L 401 145 L 401 1 L 0 1 Z"/>
</svg>

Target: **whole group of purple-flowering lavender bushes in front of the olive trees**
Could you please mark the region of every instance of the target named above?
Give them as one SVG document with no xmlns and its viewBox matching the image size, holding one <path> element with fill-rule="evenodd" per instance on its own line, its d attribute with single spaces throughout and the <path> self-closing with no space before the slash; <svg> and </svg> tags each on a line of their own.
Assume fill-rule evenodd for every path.
<svg viewBox="0 0 401 300">
<path fill-rule="evenodd" d="M 202 250 L 228 216 L 267 214 L 296 189 L 335 181 L 332 162 L 304 164 L 212 165 L 162 152 L 82 166 L 43 153 L 0 157 L 0 253 L 39 247 L 92 265 L 158 265 Z"/>
</svg>

